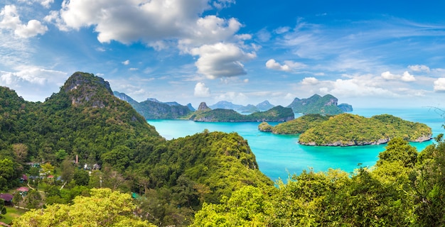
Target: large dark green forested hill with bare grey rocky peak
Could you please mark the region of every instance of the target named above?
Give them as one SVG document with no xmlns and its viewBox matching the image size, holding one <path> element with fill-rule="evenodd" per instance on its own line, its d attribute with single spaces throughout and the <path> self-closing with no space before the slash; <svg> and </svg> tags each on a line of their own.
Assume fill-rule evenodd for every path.
<svg viewBox="0 0 445 227">
<path fill-rule="evenodd" d="M 89 73 L 75 72 L 43 103 L 0 87 L 0 127 L 0 192 L 26 186 L 19 182 L 22 174 L 47 192 L 40 198 L 30 191 L 33 196 L 17 201 L 28 208 L 68 204 L 94 187 L 109 187 L 141 195 L 138 217 L 186 226 L 206 201 L 218 203 L 245 185 L 273 184 L 240 135 L 205 131 L 166 141 L 113 96 L 108 82 Z M 30 162 L 53 180 L 36 178 L 39 168 Z M 92 171 L 95 164 L 100 170 Z"/>
</svg>

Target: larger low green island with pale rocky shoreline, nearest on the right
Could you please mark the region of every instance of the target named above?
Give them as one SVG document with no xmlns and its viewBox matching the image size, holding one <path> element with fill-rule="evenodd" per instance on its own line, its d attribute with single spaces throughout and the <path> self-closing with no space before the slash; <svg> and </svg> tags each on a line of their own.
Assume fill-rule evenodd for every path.
<svg viewBox="0 0 445 227">
<path fill-rule="evenodd" d="M 339 114 L 302 133 L 299 143 L 334 146 L 368 145 L 387 143 L 395 137 L 416 142 L 424 141 L 429 140 L 431 135 L 431 128 L 427 125 L 404 121 L 389 114 L 371 118 Z"/>
</svg>

